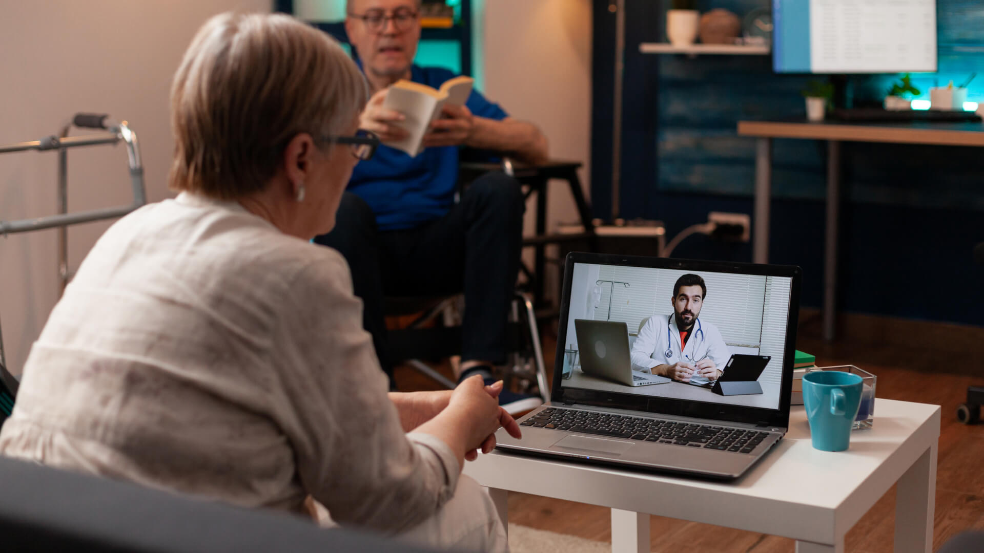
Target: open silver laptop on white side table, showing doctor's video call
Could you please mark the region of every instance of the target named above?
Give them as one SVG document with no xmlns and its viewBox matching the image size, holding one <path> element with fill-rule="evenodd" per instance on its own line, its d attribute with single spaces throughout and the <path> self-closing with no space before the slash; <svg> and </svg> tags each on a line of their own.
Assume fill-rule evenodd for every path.
<svg viewBox="0 0 984 553">
<path fill-rule="evenodd" d="M 497 432 L 497 449 L 741 476 L 788 427 L 801 276 L 788 266 L 569 254 L 551 401 L 519 419 L 522 439 Z M 612 281 L 628 285 L 604 286 Z M 572 347 L 582 364 L 565 376 Z M 769 356 L 754 387 L 761 393 L 721 395 L 687 382 L 722 379 L 735 354 Z M 699 371 L 675 370 L 681 361 Z M 628 378 L 646 375 L 633 366 L 673 378 L 639 386 Z"/>
</svg>

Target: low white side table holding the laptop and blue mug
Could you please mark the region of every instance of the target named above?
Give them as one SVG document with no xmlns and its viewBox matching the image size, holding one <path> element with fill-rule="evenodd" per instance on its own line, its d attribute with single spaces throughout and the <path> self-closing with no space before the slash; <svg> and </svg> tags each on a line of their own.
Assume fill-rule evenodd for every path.
<svg viewBox="0 0 984 553">
<path fill-rule="evenodd" d="M 509 491 L 612 510 L 612 551 L 649 551 L 649 518 L 707 522 L 796 539 L 799 553 L 841 553 L 844 534 L 892 484 L 896 552 L 933 544 L 940 406 L 876 399 L 875 425 L 855 431 L 850 449 L 813 449 L 802 406 L 785 439 L 731 483 L 662 476 L 495 451 L 465 463 L 489 488 L 507 522 Z"/>
</svg>

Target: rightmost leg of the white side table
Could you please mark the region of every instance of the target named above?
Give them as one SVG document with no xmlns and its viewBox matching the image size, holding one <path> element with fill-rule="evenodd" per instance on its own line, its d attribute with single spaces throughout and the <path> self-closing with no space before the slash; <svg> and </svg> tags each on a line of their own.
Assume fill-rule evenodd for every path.
<svg viewBox="0 0 984 553">
<path fill-rule="evenodd" d="M 934 443 L 898 479 L 895 487 L 896 553 L 929 553 L 933 548 L 936 454 Z"/>
</svg>

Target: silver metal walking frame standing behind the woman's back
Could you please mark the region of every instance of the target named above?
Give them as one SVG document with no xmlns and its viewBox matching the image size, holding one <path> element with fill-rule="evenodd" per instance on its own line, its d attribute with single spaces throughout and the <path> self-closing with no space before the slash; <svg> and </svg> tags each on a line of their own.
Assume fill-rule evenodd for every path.
<svg viewBox="0 0 984 553">
<path fill-rule="evenodd" d="M 72 127 L 102 129 L 106 133 L 69 137 Z M 103 144 L 115 145 L 120 141 L 126 144 L 127 159 L 130 167 L 130 182 L 133 189 L 133 203 L 129 206 L 103 208 L 75 214 L 68 213 L 68 149 L 83 146 L 98 146 Z M 48 136 L 40 140 L 21 142 L 0 146 L 0 154 L 13 152 L 58 151 L 58 215 L 47 215 L 35 218 L 3 221 L 0 220 L 0 236 L 31 232 L 58 227 L 58 277 L 59 297 L 65 291 L 65 286 L 72 275 L 68 269 L 68 226 L 94 220 L 116 218 L 147 204 L 147 192 L 144 188 L 144 166 L 141 162 L 140 145 L 137 133 L 130 129 L 126 121 L 115 122 L 105 114 L 77 113 L 67 123 L 58 136 Z M 6 367 L 7 361 L 3 348 L 3 334 L 0 332 L 0 366 Z"/>
</svg>

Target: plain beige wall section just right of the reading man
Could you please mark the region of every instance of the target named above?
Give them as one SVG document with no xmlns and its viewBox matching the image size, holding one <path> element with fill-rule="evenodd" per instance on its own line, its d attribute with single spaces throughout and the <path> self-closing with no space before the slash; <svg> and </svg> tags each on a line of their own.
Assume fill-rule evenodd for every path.
<svg viewBox="0 0 984 553">
<path fill-rule="evenodd" d="M 588 193 L 591 125 L 590 0 L 484 0 L 477 3 L 475 34 L 484 63 L 488 97 L 514 117 L 539 125 L 550 141 L 550 156 L 584 162 L 581 181 Z M 550 184 L 547 228 L 578 221 L 567 183 Z M 532 203 L 525 232 L 534 228 Z M 531 251 L 526 252 L 531 265 Z M 555 291 L 555 279 L 547 282 Z"/>
</svg>

